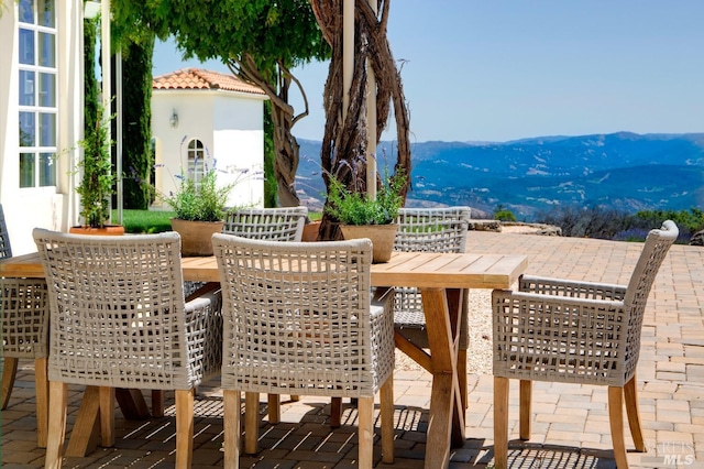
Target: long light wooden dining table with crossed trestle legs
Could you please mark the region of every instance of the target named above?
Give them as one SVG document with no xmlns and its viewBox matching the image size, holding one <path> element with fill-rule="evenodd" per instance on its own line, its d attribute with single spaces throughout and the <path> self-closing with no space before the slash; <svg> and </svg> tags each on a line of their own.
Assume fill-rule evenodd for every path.
<svg viewBox="0 0 704 469">
<path fill-rule="evenodd" d="M 447 468 L 453 445 L 462 445 L 464 405 L 458 373 L 459 320 L 463 291 L 510 288 L 528 266 L 525 255 L 395 252 L 389 262 L 372 265 L 373 286 L 419 288 L 430 352 L 404 350 L 432 373 L 426 469 Z M 219 282 L 215 257 L 183 258 L 184 280 Z M 0 261 L 0 276 L 43 277 L 36 253 Z M 397 338 L 398 345 L 398 338 Z"/>
</svg>

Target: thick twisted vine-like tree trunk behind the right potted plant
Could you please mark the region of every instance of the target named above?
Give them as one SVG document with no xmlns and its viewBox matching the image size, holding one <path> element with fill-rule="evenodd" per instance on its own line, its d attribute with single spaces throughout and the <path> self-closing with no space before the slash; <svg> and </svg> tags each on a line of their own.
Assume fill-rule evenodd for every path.
<svg viewBox="0 0 704 469">
<path fill-rule="evenodd" d="M 354 69 L 350 87 L 350 105 L 343 121 L 342 97 L 348 90 L 342 84 L 342 0 L 311 0 L 311 6 L 323 37 L 332 47 L 332 58 L 328 72 L 324 89 L 326 129 L 321 145 L 321 165 L 323 179 L 329 188 L 329 174 L 334 174 L 348 188 L 366 190 L 359 184 L 353 185 L 351 175 L 344 168 L 348 159 L 355 155 L 366 155 L 367 121 L 367 64 L 374 70 L 376 78 L 376 143 L 380 143 L 382 132 L 388 121 L 391 105 L 394 106 L 396 119 L 396 163 L 394 173 L 403 172 L 407 176 L 407 184 L 403 196 L 406 197 L 410 188 L 410 143 L 409 117 L 406 99 L 396 68 L 388 40 L 386 24 L 388 22 L 391 0 L 378 0 L 375 13 L 366 0 L 356 0 L 354 14 Z M 369 61 L 369 62 L 367 62 Z M 361 175 L 365 181 L 365 176 Z M 381 178 L 376 177 L 377 184 Z M 359 182 L 359 181 L 358 181 Z M 326 204 L 328 201 L 326 200 Z M 340 233 L 334 220 L 323 216 L 320 229 L 321 239 L 339 239 Z"/>
</svg>

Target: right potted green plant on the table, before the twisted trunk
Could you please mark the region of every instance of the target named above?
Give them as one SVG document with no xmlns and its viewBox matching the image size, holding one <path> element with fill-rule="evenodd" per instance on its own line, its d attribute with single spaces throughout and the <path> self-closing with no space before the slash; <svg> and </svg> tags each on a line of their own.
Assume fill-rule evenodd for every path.
<svg viewBox="0 0 704 469">
<path fill-rule="evenodd" d="M 361 159 L 350 165 L 353 182 L 356 181 Z M 376 197 L 349 189 L 334 175 L 329 175 L 328 204 L 323 210 L 340 222 L 344 239 L 369 238 L 372 240 L 373 262 L 388 262 L 394 249 L 398 209 L 404 204 L 402 196 L 406 185 L 403 173 L 388 174 L 384 171 Z"/>
</svg>

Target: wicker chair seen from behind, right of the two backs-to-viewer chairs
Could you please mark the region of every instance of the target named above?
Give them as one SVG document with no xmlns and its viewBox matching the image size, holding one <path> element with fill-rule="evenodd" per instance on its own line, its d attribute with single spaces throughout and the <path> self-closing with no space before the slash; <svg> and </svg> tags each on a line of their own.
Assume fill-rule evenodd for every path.
<svg viewBox="0 0 704 469">
<path fill-rule="evenodd" d="M 372 302 L 369 239 L 272 242 L 213 236 L 223 301 L 224 466 L 257 450 L 258 393 L 359 400 L 360 467 L 372 467 L 374 395 L 393 462 L 393 290 Z M 380 294 L 381 294 L 380 288 Z"/>
</svg>

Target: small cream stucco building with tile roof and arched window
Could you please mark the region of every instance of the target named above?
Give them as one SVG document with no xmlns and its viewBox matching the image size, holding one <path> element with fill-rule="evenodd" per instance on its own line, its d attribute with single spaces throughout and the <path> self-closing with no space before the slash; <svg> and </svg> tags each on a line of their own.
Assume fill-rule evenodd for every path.
<svg viewBox="0 0 704 469">
<path fill-rule="evenodd" d="M 266 99 L 232 74 L 185 68 L 154 77 L 157 193 L 176 190 L 182 175 L 197 182 L 217 171 L 218 184 L 235 183 L 228 205 L 263 206 Z"/>
</svg>

